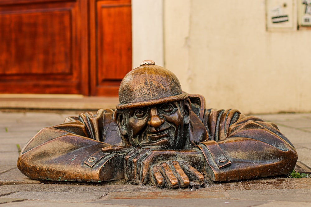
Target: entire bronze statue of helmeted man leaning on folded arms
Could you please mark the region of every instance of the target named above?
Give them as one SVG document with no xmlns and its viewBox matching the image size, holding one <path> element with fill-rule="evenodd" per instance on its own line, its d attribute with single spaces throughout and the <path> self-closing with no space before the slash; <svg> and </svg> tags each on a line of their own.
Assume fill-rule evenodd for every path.
<svg viewBox="0 0 311 207">
<path fill-rule="evenodd" d="M 32 179 L 102 182 L 125 178 L 187 187 L 286 174 L 297 152 L 273 123 L 238 110 L 205 108 L 176 76 L 153 61 L 130 71 L 116 110 L 68 117 L 39 131 L 17 166 Z"/>
</svg>

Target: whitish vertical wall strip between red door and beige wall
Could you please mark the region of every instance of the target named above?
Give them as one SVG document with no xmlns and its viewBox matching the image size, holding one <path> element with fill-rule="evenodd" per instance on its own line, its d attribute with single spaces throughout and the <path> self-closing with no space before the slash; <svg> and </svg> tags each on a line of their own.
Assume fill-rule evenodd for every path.
<svg viewBox="0 0 311 207">
<path fill-rule="evenodd" d="M 146 59 L 164 65 L 163 1 L 132 0 L 132 68 Z"/>
</svg>

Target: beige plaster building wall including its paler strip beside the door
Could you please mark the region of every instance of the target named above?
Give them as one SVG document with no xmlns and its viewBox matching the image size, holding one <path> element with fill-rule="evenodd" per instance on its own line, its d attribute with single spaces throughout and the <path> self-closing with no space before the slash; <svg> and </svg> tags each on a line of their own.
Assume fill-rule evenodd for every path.
<svg viewBox="0 0 311 207">
<path fill-rule="evenodd" d="M 264 0 L 132 0 L 133 67 L 153 59 L 208 108 L 311 111 L 311 29 L 267 29 Z M 285 5 L 286 6 L 286 5 Z"/>
</svg>

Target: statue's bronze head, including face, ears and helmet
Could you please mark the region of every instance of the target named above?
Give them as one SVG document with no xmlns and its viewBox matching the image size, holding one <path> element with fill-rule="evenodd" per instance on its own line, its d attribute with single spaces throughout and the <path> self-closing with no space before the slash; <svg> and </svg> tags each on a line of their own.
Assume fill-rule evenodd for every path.
<svg viewBox="0 0 311 207">
<path fill-rule="evenodd" d="M 153 61 L 130 71 L 119 88 L 116 121 L 123 142 L 182 149 L 188 139 L 191 104 L 177 77 Z"/>
</svg>

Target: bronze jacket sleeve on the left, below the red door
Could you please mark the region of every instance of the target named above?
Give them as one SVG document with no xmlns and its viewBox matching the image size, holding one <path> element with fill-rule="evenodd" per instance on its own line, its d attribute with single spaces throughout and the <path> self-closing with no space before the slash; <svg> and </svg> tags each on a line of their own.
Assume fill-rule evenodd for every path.
<svg viewBox="0 0 311 207">
<path fill-rule="evenodd" d="M 39 180 L 101 182 L 123 178 L 124 155 L 103 153 L 101 149 L 110 144 L 98 141 L 105 133 L 99 127 L 102 123 L 109 126 L 104 121 L 112 114 L 107 115 L 107 111 L 111 112 L 99 110 L 101 115 L 92 117 L 81 114 L 85 119 L 70 117 L 64 124 L 43 128 L 23 147 L 17 167 Z"/>
</svg>

